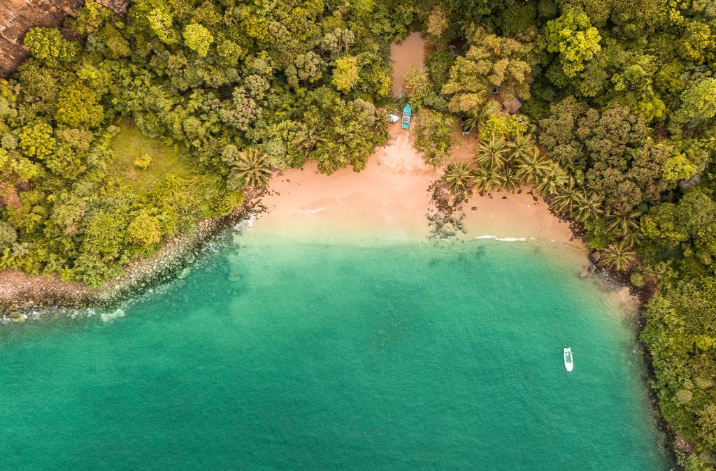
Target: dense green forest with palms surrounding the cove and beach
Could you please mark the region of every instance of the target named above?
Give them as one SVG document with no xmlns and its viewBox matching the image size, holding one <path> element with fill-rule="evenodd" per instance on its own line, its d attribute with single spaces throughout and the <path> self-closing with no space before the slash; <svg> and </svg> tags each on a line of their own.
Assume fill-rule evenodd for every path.
<svg viewBox="0 0 716 471">
<path fill-rule="evenodd" d="M 642 289 L 680 460 L 714 469 L 714 2 L 90 1 L 66 26 L 29 31 L 0 80 L 0 269 L 99 286 L 272 170 L 362 170 L 387 138 L 390 42 L 422 31 L 416 147 L 448 162 L 462 117 L 480 150 L 446 185 L 531 184 Z"/>
</svg>

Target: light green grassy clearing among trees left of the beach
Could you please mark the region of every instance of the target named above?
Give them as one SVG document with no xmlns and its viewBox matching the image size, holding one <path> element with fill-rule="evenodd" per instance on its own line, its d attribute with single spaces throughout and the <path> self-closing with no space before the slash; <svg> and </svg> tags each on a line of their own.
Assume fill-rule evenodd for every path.
<svg viewBox="0 0 716 471">
<path fill-rule="evenodd" d="M 115 161 L 110 171 L 136 193 L 147 193 L 153 182 L 168 173 L 179 176 L 191 173 L 191 162 L 181 149 L 143 135 L 130 120 L 118 120 L 116 124 L 121 131 L 112 140 Z M 142 170 L 135 165 L 135 159 L 145 154 L 152 157 L 152 163 Z"/>
</svg>

